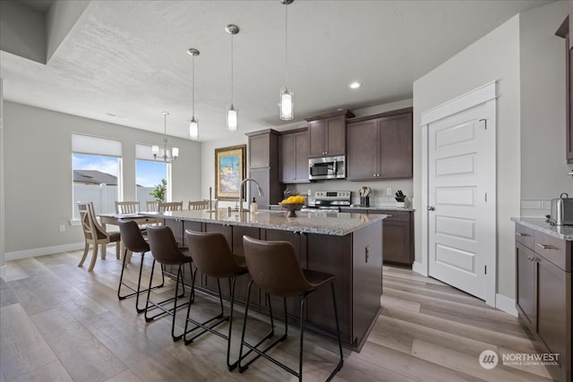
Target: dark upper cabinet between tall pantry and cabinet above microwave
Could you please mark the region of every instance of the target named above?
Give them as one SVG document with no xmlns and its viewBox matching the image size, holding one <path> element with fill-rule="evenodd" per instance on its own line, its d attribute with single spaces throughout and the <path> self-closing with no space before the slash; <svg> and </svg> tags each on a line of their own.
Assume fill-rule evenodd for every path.
<svg viewBox="0 0 573 382">
<path fill-rule="evenodd" d="M 281 182 L 309 183 L 307 129 L 282 134 L 278 143 Z"/>
</svg>

